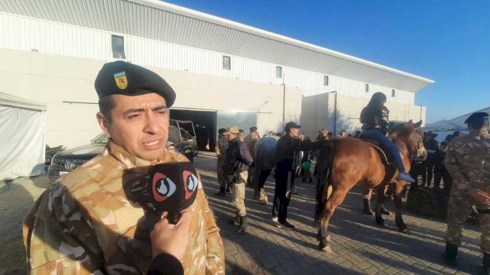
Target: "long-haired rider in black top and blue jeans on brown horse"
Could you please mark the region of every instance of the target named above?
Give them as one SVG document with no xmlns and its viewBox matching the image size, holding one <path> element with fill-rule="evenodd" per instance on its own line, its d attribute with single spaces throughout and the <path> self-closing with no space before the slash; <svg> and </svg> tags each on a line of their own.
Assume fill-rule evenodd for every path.
<svg viewBox="0 0 490 275">
<path fill-rule="evenodd" d="M 370 139 L 378 142 L 381 147 L 388 151 L 388 153 L 395 159 L 398 171 L 398 180 L 404 180 L 408 182 L 415 182 L 415 180 L 407 174 L 405 167 L 403 166 L 402 157 L 398 148 L 393 142 L 388 140 L 386 134 L 388 133 L 388 115 L 389 110 L 384 105 L 386 103 L 386 96 L 383 93 L 375 93 L 367 106 L 362 109 L 360 121 L 362 123 L 362 135 L 369 137 Z"/>
</svg>

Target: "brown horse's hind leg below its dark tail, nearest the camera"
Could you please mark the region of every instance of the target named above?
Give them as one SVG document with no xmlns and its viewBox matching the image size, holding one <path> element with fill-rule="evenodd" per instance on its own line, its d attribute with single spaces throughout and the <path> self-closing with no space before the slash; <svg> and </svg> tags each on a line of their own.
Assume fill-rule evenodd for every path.
<svg viewBox="0 0 490 275">
<path fill-rule="evenodd" d="M 328 235 L 328 223 L 330 221 L 330 217 L 332 216 L 335 208 L 344 201 L 346 198 L 347 190 L 339 190 L 333 188 L 332 195 L 327 201 L 327 206 L 325 207 L 325 212 L 320 218 L 320 228 L 318 228 L 318 236 L 320 237 L 320 243 L 318 244 L 318 249 L 331 253 L 332 249 L 328 245 L 328 241 L 330 240 L 330 236 Z"/>
</svg>

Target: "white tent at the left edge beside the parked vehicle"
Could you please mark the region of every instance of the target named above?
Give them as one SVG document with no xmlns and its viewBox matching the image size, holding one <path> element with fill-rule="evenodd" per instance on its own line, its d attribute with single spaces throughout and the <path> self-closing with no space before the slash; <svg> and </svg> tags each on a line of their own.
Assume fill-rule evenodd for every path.
<svg viewBox="0 0 490 275">
<path fill-rule="evenodd" d="M 0 92 L 0 180 L 44 174 L 46 110 Z"/>
</svg>

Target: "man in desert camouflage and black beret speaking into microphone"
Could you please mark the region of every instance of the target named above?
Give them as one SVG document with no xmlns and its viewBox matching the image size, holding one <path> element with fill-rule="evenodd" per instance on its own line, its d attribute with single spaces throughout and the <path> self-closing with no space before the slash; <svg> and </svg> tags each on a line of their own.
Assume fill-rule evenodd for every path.
<svg viewBox="0 0 490 275">
<path fill-rule="evenodd" d="M 157 163 L 188 161 L 165 148 L 166 110 L 176 95 L 156 73 L 123 61 L 102 67 L 95 90 L 97 120 L 109 142 L 103 154 L 50 185 L 24 219 L 30 273 L 145 274 L 150 268 L 152 206 L 140 205 L 135 197 L 144 190 L 128 183 L 146 182 Z M 224 274 L 219 229 L 201 184 L 197 192 L 187 208 L 191 229 L 181 264 L 185 274 Z"/>
</svg>

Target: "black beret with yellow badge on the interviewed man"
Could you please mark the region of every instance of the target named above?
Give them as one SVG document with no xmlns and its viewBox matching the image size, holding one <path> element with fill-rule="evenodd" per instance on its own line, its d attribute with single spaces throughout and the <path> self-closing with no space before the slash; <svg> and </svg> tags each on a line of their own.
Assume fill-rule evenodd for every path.
<svg viewBox="0 0 490 275">
<path fill-rule="evenodd" d="M 104 64 L 95 78 L 99 99 L 109 95 L 137 96 L 156 93 L 165 98 L 167 107 L 175 102 L 175 91 L 155 72 L 124 61 Z"/>
</svg>

